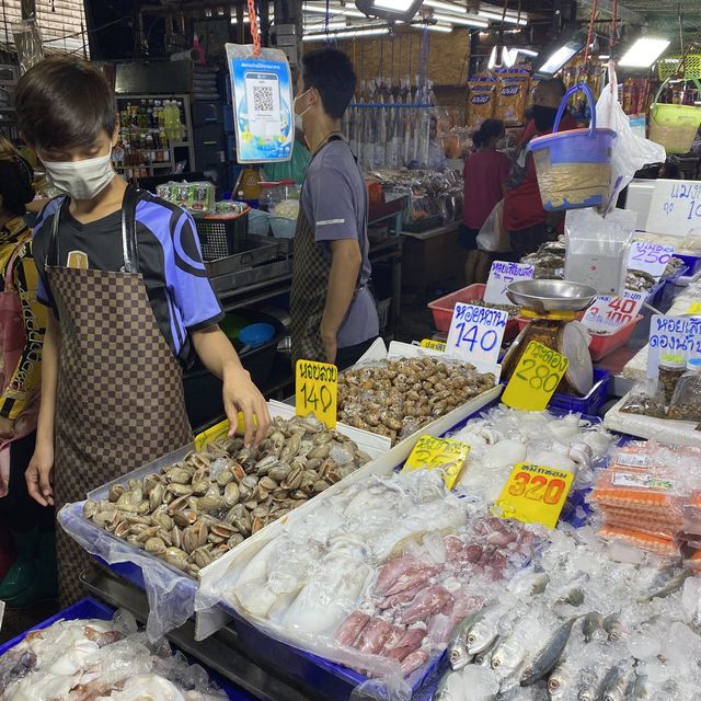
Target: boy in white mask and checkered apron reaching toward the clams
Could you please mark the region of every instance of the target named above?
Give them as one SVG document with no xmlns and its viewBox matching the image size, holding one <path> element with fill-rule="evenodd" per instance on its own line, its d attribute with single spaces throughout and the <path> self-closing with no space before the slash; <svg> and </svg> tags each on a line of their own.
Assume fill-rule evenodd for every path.
<svg viewBox="0 0 701 701">
<path fill-rule="evenodd" d="M 265 401 L 218 322 L 192 217 L 116 176 L 114 96 L 84 61 L 54 57 L 16 90 L 24 139 L 53 184 L 34 230 L 37 297 L 48 306 L 30 494 L 57 510 L 192 440 L 182 367 L 196 352 L 223 381 L 227 414 L 260 440 Z M 257 428 L 254 422 L 257 422 Z M 79 595 L 83 551 L 57 538 L 59 596 Z"/>
</svg>

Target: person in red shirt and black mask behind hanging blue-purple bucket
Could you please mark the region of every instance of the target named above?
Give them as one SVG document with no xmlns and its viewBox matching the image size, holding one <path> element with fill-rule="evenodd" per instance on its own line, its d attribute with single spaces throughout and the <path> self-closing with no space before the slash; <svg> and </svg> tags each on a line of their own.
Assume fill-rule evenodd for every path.
<svg viewBox="0 0 701 701">
<path fill-rule="evenodd" d="M 526 126 L 521 142 L 512 162 L 509 189 L 504 197 L 504 228 L 515 260 L 535 252 L 541 243 L 554 240 L 562 216 L 549 216 L 543 209 L 533 158 L 528 151 L 531 139 L 551 134 L 558 108 L 565 94 L 563 82 L 556 78 L 540 82 L 533 91 L 532 119 Z M 576 129 L 577 123 L 567 112 L 560 122 L 560 131 Z"/>
</svg>

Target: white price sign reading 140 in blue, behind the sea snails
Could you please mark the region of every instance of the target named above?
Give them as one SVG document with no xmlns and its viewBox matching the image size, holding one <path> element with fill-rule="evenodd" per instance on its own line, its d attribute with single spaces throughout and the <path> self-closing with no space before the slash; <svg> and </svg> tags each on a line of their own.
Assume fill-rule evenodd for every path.
<svg viewBox="0 0 701 701">
<path fill-rule="evenodd" d="M 446 353 L 481 365 L 496 365 L 508 314 L 499 309 L 458 302 Z"/>
</svg>

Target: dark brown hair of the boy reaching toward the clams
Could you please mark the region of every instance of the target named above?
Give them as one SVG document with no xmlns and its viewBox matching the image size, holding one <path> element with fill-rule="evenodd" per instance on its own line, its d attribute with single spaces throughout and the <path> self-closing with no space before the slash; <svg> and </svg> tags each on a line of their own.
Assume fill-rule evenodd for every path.
<svg viewBox="0 0 701 701">
<path fill-rule="evenodd" d="M 20 131 L 32 146 L 77 149 L 92 146 L 117 125 L 114 94 L 103 73 L 87 61 L 53 56 L 18 83 Z"/>
</svg>

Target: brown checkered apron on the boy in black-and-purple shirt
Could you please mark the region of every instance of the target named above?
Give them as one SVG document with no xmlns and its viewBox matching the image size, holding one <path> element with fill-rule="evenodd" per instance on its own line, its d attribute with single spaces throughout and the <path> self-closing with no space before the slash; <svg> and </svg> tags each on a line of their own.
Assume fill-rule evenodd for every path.
<svg viewBox="0 0 701 701">
<path fill-rule="evenodd" d="M 64 504 L 192 440 L 182 370 L 159 329 L 138 272 L 137 192 L 122 208 L 124 271 L 60 267 L 54 217 L 46 273 L 58 309 L 61 344 L 54 459 L 54 498 Z M 84 551 L 57 529 L 59 599 L 81 596 Z"/>
</svg>

